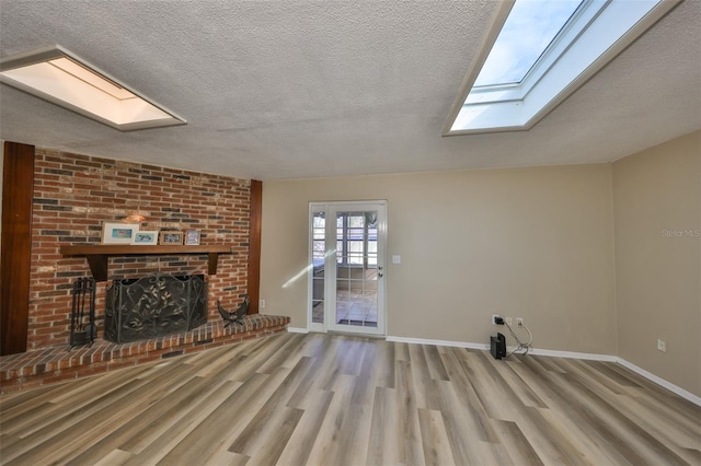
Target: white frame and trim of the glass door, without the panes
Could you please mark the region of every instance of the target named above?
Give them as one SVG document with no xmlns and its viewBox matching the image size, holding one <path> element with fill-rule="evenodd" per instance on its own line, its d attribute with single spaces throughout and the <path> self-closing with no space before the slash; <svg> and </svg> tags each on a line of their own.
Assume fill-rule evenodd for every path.
<svg viewBox="0 0 701 466">
<path fill-rule="evenodd" d="M 377 327 L 364 327 L 353 325 L 330 325 L 330 316 L 335 316 L 336 312 L 336 231 L 335 228 L 330 231 L 326 228 L 324 244 L 325 244 L 325 259 L 324 259 L 324 322 L 323 324 L 314 323 L 312 319 L 313 312 L 313 276 L 314 276 L 314 261 L 313 261 L 313 214 L 314 212 L 326 212 L 326 219 L 329 212 L 332 213 L 335 219 L 335 213 L 338 211 L 364 211 L 364 210 L 377 210 L 378 211 L 378 225 L 377 225 L 377 267 L 381 270 L 382 275 L 377 280 Z M 348 200 L 348 201 L 314 201 L 309 202 L 308 212 L 308 225 L 309 225 L 309 240 L 308 247 L 308 289 L 307 289 L 307 327 L 310 331 L 343 331 L 359 335 L 371 336 L 387 336 L 387 233 L 388 233 L 388 209 L 387 200 Z M 326 224 L 327 225 L 327 224 Z M 335 225 L 335 221 L 334 221 Z M 331 246 L 332 245 L 332 246 Z M 330 267 L 332 267 L 330 269 Z M 327 271 L 331 270 L 329 275 Z"/>
</svg>

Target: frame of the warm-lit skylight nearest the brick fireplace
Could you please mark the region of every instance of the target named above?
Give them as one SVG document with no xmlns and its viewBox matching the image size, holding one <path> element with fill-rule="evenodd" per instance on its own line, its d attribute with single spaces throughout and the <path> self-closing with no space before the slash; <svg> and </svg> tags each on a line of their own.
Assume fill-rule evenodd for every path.
<svg viewBox="0 0 701 466">
<path fill-rule="evenodd" d="M 135 98 L 120 98 L 118 96 L 115 96 L 114 94 L 106 92 L 100 85 L 95 85 L 94 83 L 88 83 L 87 80 L 81 79 L 69 71 L 66 71 L 60 67 L 56 67 L 53 63 L 50 63 L 51 60 L 57 60 L 60 58 L 66 58 L 69 61 L 73 62 L 74 65 L 80 66 L 81 68 L 84 69 L 84 71 L 93 74 L 94 78 L 103 80 L 104 83 L 106 83 L 107 85 L 114 85 L 116 88 L 120 88 L 129 92 L 130 94 L 133 94 Z M 114 118 L 111 119 L 108 116 L 104 114 L 100 115 L 99 113 L 95 113 L 90 108 L 85 108 L 81 106 L 79 103 L 77 103 L 76 101 L 73 102 L 67 101 L 62 98 L 60 95 L 54 95 L 53 93 L 46 90 L 37 89 L 32 84 L 20 81 L 16 77 L 13 78 L 10 75 L 13 71 L 16 71 L 16 70 L 21 71 L 23 68 L 26 68 L 26 67 L 44 65 L 44 63 L 53 66 L 56 70 L 60 70 L 60 72 L 64 74 L 71 75 L 73 80 L 73 84 L 71 85 L 76 85 L 74 82 L 81 81 L 85 84 L 85 88 L 90 88 L 91 90 L 90 92 L 104 93 L 105 95 L 110 95 L 114 101 L 117 101 L 120 103 L 130 101 L 127 104 L 127 105 L 130 104 L 129 105 L 130 108 L 125 108 L 122 110 L 119 109 L 113 110 L 113 114 L 119 114 L 119 112 L 125 112 L 125 110 L 134 113 L 134 110 L 136 110 L 136 112 L 142 112 L 146 114 L 150 113 L 152 115 L 152 118 L 140 119 L 138 121 L 119 123 Z M 99 68 L 94 67 L 93 65 L 78 57 L 76 54 L 58 45 L 0 59 L 0 82 L 2 82 L 3 84 L 10 85 L 12 88 L 19 89 L 20 91 L 26 92 L 27 94 L 39 97 L 44 101 L 56 104 L 60 107 L 67 108 L 71 112 L 80 114 L 97 123 L 110 126 L 119 131 L 135 131 L 139 129 L 163 128 L 163 127 L 180 126 L 180 125 L 187 124 L 187 121 L 184 118 L 176 115 L 174 112 L 165 108 L 160 104 L 157 104 L 152 100 L 146 97 L 143 94 L 124 84 L 116 78 L 100 70 Z M 138 103 L 137 101 L 140 103 Z M 161 115 L 158 115 L 158 114 L 161 114 Z"/>
</svg>

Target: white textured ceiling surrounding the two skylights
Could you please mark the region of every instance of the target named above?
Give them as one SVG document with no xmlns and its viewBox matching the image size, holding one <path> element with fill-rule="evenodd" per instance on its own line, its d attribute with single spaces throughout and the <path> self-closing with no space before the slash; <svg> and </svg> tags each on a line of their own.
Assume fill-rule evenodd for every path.
<svg viewBox="0 0 701 466">
<path fill-rule="evenodd" d="M 497 5 L 0 0 L 1 57 L 61 45 L 188 121 L 119 132 L 1 85 L 0 138 L 265 180 L 608 162 L 701 128 L 687 0 L 530 131 L 441 137 Z"/>
</svg>

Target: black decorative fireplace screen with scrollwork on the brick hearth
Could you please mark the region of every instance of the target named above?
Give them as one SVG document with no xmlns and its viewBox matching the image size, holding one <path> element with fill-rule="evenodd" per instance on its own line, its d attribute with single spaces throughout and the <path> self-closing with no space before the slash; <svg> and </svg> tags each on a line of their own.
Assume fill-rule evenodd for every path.
<svg viewBox="0 0 701 466">
<path fill-rule="evenodd" d="M 105 301 L 105 339 L 116 343 L 188 331 L 207 322 L 200 275 L 115 280 Z"/>
</svg>

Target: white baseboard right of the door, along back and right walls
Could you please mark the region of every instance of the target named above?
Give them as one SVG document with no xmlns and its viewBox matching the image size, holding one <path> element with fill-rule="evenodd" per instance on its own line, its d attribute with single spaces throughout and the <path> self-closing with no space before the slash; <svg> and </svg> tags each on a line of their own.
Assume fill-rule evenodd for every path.
<svg viewBox="0 0 701 466">
<path fill-rule="evenodd" d="M 397 341 L 404 343 L 416 343 L 416 345 L 436 345 L 444 347 L 457 347 L 457 348 L 470 348 L 470 349 L 480 349 L 480 350 L 490 350 L 489 345 L 483 343 L 470 343 L 466 341 L 446 341 L 446 340 L 429 340 L 424 338 L 406 338 L 406 337 L 387 337 L 387 341 Z M 529 351 L 529 354 L 533 356 L 544 356 L 544 357 L 553 357 L 553 358 L 568 358 L 568 359 L 586 359 L 590 361 L 605 361 L 605 362 L 616 362 L 621 364 L 622 366 L 630 369 L 636 374 L 647 378 L 651 382 L 656 383 L 657 385 L 667 388 L 669 392 L 679 395 L 680 397 L 693 403 L 694 405 L 701 406 L 701 397 L 696 396 L 691 392 L 687 392 L 678 385 L 673 384 L 652 372 L 647 372 L 644 369 L 639 368 L 637 365 L 628 362 L 623 358 L 619 358 L 617 356 L 611 354 L 597 354 L 597 353 L 588 353 L 588 352 L 575 352 L 575 351 L 558 351 L 558 350 L 547 350 L 547 349 L 538 349 L 535 348 Z"/>
</svg>

